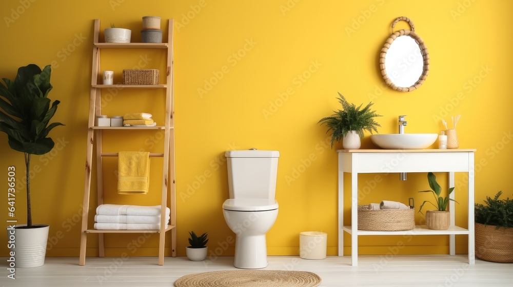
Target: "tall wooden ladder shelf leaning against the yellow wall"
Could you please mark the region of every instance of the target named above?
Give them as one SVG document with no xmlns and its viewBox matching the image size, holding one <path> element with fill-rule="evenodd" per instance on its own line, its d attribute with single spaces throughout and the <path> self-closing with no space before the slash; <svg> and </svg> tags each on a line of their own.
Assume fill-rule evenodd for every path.
<svg viewBox="0 0 513 287">
<path fill-rule="evenodd" d="M 175 192 L 175 153 L 174 153 L 174 84 L 173 84 L 173 19 L 169 19 L 168 43 L 99 43 L 100 20 L 94 20 L 94 45 L 91 75 L 91 94 L 89 103 L 89 124 L 87 131 L 86 175 L 84 184 L 84 208 L 82 213 L 82 234 L 80 238 L 79 265 L 85 265 L 87 235 L 98 234 L 98 253 L 105 256 L 104 233 L 159 233 L 159 265 L 164 264 L 164 247 L 166 232 L 171 231 L 172 256 L 176 256 L 176 192 Z M 97 83 L 100 69 L 100 52 L 102 49 L 166 49 L 167 71 L 166 84 L 160 85 L 100 85 Z M 131 89 L 166 89 L 165 125 L 156 127 L 97 127 L 96 115 L 101 115 L 101 91 L 104 88 L 131 88 Z M 162 198 L 160 230 L 96 230 L 90 229 L 88 224 L 89 210 L 94 208 L 89 204 L 91 197 L 91 173 L 96 168 L 98 202 L 103 204 L 103 157 L 115 157 L 117 153 L 102 152 L 102 132 L 109 130 L 124 130 L 127 133 L 137 130 L 164 130 L 164 152 L 151 153 L 150 157 L 163 157 Z M 93 148 L 96 148 L 96 167 L 92 165 Z M 170 179 L 168 178 L 170 175 Z M 169 197 L 168 197 L 169 194 Z M 166 227 L 166 202 L 170 201 L 170 221 Z"/>
</svg>

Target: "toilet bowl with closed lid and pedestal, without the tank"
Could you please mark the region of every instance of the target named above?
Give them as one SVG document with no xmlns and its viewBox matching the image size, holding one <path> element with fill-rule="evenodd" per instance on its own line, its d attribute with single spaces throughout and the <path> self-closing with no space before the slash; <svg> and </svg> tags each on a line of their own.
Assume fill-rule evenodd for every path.
<svg viewBox="0 0 513 287">
<path fill-rule="evenodd" d="M 265 234 L 278 217 L 278 202 L 274 199 L 227 199 L 223 215 L 235 233 L 233 265 L 242 269 L 267 267 Z"/>
</svg>

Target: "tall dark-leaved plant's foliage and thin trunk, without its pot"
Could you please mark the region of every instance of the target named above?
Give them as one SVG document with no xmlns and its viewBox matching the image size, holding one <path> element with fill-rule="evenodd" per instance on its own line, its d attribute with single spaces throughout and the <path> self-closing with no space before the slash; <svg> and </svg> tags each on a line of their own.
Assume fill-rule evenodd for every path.
<svg viewBox="0 0 513 287">
<path fill-rule="evenodd" d="M 51 66 L 43 70 L 34 64 L 18 69 L 14 81 L 3 78 L 0 85 L 0 131 L 7 134 L 9 147 L 25 154 L 27 176 L 27 228 L 32 227 L 30 202 L 30 156 L 50 152 L 55 145 L 48 137 L 60 122 L 50 124 L 60 101 L 51 103 L 48 93 Z"/>
</svg>

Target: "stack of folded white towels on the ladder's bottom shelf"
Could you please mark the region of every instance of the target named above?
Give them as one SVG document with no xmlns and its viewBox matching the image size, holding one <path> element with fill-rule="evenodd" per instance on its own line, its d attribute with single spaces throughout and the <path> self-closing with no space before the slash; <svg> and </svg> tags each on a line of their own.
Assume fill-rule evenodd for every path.
<svg viewBox="0 0 513 287">
<path fill-rule="evenodd" d="M 170 213 L 166 207 L 166 228 Z M 97 230 L 156 230 L 160 229 L 161 206 L 101 204 L 94 221 Z"/>
</svg>

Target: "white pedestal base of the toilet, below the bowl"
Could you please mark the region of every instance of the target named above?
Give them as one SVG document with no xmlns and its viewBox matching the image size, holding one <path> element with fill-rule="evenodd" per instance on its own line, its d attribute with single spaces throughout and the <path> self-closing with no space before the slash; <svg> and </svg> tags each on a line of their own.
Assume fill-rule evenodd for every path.
<svg viewBox="0 0 513 287">
<path fill-rule="evenodd" d="M 236 236 L 233 266 L 241 269 L 266 268 L 267 243 L 264 235 Z"/>
</svg>

